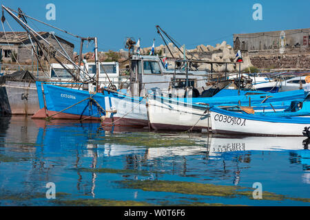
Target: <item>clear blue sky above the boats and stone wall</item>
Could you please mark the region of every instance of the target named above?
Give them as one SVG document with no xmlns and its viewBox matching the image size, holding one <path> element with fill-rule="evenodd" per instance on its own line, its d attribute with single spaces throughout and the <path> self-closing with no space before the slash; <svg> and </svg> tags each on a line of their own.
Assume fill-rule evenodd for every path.
<svg viewBox="0 0 310 220">
<path fill-rule="evenodd" d="M 48 21 L 45 6 L 56 6 L 56 20 Z M 252 9 L 262 5 L 262 21 L 254 21 Z M 79 36 L 97 36 L 99 50 L 124 48 L 127 36 L 141 38 L 141 47 L 163 44 L 156 33 L 160 25 L 178 43 L 192 49 L 201 43 L 215 45 L 222 41 L 233 44 L 232 34 L 310 28 L 309 0 L 4 0 L 1 4 L 14 10 L 21 8 L 26 14 L 55 25 Z M 8 14 L 6 19 L 14 30 L 22 30 Z M 5 23 L 6 24 L 6 23 Z M 34 30 L 52 31 L 51 28 L 30 22 Z M 6 31 L 10 31 L 5 25 Z M 1 30 L 3 31 L 3 30 Z M 55 31 L 74 43 L 79 50 L 79 40 Z M 89 45 L 85 51 L 92 50 Z"/>
</svg>

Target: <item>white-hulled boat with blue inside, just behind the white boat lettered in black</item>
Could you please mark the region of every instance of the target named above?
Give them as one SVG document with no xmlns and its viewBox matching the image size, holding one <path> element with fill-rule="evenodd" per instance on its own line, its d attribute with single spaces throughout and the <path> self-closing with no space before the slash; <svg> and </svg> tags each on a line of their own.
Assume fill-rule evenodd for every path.
<svg viewBox="0 0 310 220">
<path fill-rule="evenodd" d="M 291 100 L 295 100 L 296 96 L 293 95 L 295 93 L 303 94 L 303 91 L 278 93 L 270 99 L 260 95 L 180 99 L 156 96 L 147 100 L 147 117 L 150 126 L 155 130 L 203 131 L 203 129 L 210 129 L 212 124 L 208 116 L 207 104 L 244 113 L 284 111 L 290 106 Z M 249 100 L 251 100 L 251 107 L 249 107 Z"/>
</svg>

